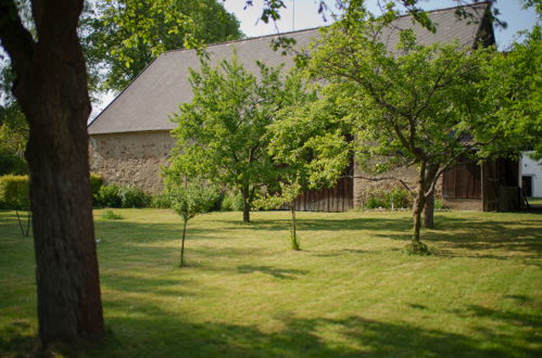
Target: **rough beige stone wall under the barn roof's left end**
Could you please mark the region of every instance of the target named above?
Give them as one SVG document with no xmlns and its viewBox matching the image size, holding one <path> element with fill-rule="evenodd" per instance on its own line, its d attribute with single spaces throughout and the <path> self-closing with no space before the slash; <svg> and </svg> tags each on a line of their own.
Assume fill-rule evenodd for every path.
<svg viewBox="0 0 542 358">
<path fill-rule="evenodd" d="M 90 170 L 105 184 L 134 184 L 148 192 L 162 190 L 161 166 L 175 141 L 168 131 L 90 136 Z"/>
</svg>

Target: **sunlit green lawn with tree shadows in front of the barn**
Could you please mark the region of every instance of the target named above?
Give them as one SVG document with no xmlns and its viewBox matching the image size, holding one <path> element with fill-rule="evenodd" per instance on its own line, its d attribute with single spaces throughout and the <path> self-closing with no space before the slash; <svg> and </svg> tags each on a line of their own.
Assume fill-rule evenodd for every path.
<svg viewBox="0 0 542 358">
<path fill-rule="evenodd" d="M 529 357 L 542 354 L 542 215 L 437 213 L 434 252 L 404 253 L 411 217 L 169 210 L 94 213 L 106 340 L 58 356 Z M 0 356 L 31 351 L 31 240 L 0 212 Z M 55 350 L 56 349 L 56 350 Z"/>
</svg>

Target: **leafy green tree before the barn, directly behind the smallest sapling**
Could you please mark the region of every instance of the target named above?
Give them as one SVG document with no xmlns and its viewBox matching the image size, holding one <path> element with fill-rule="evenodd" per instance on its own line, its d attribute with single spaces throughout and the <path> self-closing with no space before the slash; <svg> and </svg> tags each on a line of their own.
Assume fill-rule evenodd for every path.
<svg viewBox="0 0 542 358">
<path fill-rule="evenodd" d="M 276 177 L 266 127 L 277 111 L 295 101 L 300 89 L 293 77 L 282 81 L 278 68 L 259 67 L 256 76 L 236 59 L 217 68 L 203 63 L 200 73 L 191 73 L 192 102 L 181 104 L 173 118 L 178 127 L 172 132 L 177 144 L 171 170 L 238 190 L 244 222 L 250 221 L 257 190 Z"/>
</svg>

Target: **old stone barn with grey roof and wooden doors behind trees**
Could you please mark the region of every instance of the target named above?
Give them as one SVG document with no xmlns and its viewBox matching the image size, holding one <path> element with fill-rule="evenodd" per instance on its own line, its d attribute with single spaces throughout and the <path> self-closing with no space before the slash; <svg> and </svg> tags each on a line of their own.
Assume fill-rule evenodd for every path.
<svg viewBox="0 0 542 358">
<path fill-rule="evenodd" d="M 449 43 L 458 40 L 466 47 L 478 43 L 494 43 L 491 23 L 487 17 L 488 3 L 465 8 L 474 16 L 469 20 L 457 17 L 457 8 L 432 11 L 431 21 L 437 25 L 432 34 L 415 24 L 409 16 L 399 17 L 388 29 L 387 46 L 394 49 L 399 29 L 412 28 L 420 43 Z M 302 50 L 314 38 L 318 29 L 307 29 L 283 34 L 295 39 L 297 50 Z M 277 36 L 263 36 L 231 42 L 210 44 L 211 65 L 234 54 L 245 68 L 257 73 L 256 61 L 270 66 L 283 65 L 285 71 L 293 66 L 292 55 L 274 51 L 270 43 Z M 103 176 L 105 183 L 135 184 L 149 192 L 162 189 L 161 166 L 166 165 L 174 145 L 169 131 L 175 124 L 169 120 L 178 112 L 179 103 L 191 101 L 192 93 L 188 81 L 189 68 L 198 69 L 199 59 L 193 50 L 169 51 L 155 59 L 116 99 L 89 125 L 91 170 Z M 306 192 L 298 199 L 301 210 L 342 212 L 363 201 L 364 193 L 375 186 L 379 188 L 396 186 L 387 181 L 367 181 L 357 175 L 355 165 L 333 189 Z M 456 208 L 494 209 L 483 199 L 483 182 L 494 184 L 494 176 L 489 178 L 479 166 L 462 166 L 448 172 L 440 186 L 438 195 L 443 195 L 448 205 Z M 386 175 L 400 177 L 414 183 L 414 169 L 400 169 Z M 506 183 L 513 186 L 513 180 Z M 443 188 L 443 189 L 442 189 Z M 476 189 L 474 189 L 476 188 Z M 499 183 L 492 188 L 492 200 L 499 197 Z"/>
</svg>

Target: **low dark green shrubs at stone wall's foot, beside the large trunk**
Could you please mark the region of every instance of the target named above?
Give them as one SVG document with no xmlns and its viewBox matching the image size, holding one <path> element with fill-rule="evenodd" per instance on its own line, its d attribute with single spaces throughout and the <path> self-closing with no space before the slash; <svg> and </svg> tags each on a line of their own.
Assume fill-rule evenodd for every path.
<svg viewBox="0 0 542 358">
<path fill-rule="evenodd" d="M 102 186 L 97 204 L 103 207 L 147 207 L 151 195 L 135 186 Z"/>
</svg>

